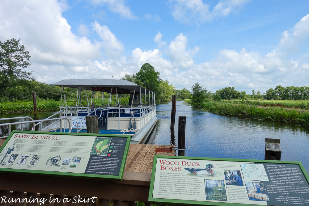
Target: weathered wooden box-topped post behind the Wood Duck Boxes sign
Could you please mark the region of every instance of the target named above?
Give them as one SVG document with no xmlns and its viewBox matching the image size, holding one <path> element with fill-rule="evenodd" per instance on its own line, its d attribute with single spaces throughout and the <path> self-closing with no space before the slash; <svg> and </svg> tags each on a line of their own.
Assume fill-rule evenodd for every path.
<svg viewBox="0 0 309 206">
<path fill-rule="evenodd" d="M 281 160 L 280 139 L 265 138 L 265 160 Z"/>
</svg>

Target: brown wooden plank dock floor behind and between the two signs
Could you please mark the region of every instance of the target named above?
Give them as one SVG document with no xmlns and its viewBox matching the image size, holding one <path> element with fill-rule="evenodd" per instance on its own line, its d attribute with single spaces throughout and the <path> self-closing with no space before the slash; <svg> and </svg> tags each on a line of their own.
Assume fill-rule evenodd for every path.
<svg viewBox="0 0 309 206">
<path fill-rule="evenodd" d="M 0 147 L 5 140 L 0 140 Z M 172 152 L 155 152 L 156 148 L 170 148 L 171 145 L 130 145 L 125 171 L 151 173 L 154 155 L 175 156 Z"/>
</svg>

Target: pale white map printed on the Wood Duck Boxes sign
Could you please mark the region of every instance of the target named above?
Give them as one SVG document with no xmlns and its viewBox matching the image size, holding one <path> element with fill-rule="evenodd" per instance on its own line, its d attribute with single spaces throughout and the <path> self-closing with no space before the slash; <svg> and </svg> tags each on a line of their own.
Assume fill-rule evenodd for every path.
<svg viewBox="0 0 309 206">
<path fill-rule="evenodd" d="M 263 164 L 240 163 L 245 180 L 269 181 Z"/>
</svg>

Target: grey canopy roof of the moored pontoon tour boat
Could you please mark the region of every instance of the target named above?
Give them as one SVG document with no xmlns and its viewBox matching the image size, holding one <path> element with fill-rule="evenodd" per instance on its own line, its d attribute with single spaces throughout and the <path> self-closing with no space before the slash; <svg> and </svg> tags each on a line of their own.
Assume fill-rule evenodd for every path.
<svg viewBox="0 0 309 206">
<path fill-rule="evenodd" d="M 139 87 L 141 87 L 142 93 L 144 93 L 146 89 L 123 79 L 63 79 L 52 85 L 108 93 L 112 90 L 112 94 L 116 94 L 116 87 L 118 94 L 133 94 L 134 89 L 136 89 L 135 93 L 139 93 Z M 147 93 L 149 91 L 146 90 Z"/>
</svg>

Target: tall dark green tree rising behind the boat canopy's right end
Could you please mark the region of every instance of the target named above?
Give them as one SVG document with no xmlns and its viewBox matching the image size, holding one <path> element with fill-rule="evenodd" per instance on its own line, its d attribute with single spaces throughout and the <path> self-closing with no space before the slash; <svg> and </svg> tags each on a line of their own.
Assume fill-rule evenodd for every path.
<svg viewBox="0 0 309 206">
<path fill-rule="evenodd" d="M 139 85 L 145 87 L 147 90 L 153 91 L 159 94 L 160 87 L 160 73 L 155 71 L 155 68 L 149 63 L 142 65 L 138 73 L 136 73 L 136 79 Z"/>
</svg>

